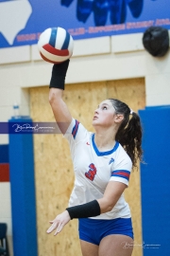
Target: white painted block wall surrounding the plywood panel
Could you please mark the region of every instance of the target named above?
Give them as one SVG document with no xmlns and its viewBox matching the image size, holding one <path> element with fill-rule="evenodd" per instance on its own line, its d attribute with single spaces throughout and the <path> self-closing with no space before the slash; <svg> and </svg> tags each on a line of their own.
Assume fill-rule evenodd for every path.
<svg viewBox="0 0 170 256">
<path fill-rule="evenodd" d="M 170 104 L 170 52 L 163 58 L 149 55 L 142 33 L 75 41 L 67 83 L 145 78 L 146 105 Z M 48 85 L 52 64 L 45 63 L 37 46 L 0 49 L 0 121 L 13 115 L 17 101 L 21 115 L 29 115 L 27 88 Z M 8 144 L 8 135 L 0 135 Z M 4 194 L 6 194 L 4 196 Z M 10 187 L 0 183 L 0 222 L 8 222 L 11 236 Z"/>
</svg>

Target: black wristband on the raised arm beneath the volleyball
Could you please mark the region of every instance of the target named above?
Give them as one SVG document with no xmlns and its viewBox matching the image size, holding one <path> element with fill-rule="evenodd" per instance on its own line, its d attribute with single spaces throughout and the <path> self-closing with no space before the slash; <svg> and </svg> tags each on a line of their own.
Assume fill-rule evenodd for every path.
<svg viewBox="0 0 170 256">
<path fill-rule="evenodd" d="M 70 60 L 60 64 L 54 64 L 52 69 L 51 81 L 49 88 L 59 88 L 64 90 L 65 76 Z"/>
</svg>

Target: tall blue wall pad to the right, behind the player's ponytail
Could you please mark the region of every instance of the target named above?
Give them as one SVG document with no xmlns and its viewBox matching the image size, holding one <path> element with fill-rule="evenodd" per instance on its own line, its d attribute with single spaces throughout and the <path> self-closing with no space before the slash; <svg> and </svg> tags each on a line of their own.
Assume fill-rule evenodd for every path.
<svg viewBox="0 0 170 256">
<path fill-rule="evenodd" d="M 141 164 L 143 252 L 170 255 L 170 106 L 146 107 L 139 115 L 145 161 Z"/>
</svg>

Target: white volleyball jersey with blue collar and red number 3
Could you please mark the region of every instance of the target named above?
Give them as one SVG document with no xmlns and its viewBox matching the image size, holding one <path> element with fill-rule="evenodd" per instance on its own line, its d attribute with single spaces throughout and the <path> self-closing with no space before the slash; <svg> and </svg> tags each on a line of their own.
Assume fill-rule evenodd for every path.
<svg viewBox="0 0 170 256">
<path fill-rule="evenodd" d="M 94 143 L 94 136 L 76 119 L 72 119 L 64 135 L 70 144 L 75 170 L 75 186 L 69 207 L 102 198 L 111 180 L 123 182 L 128 186 L 132 163 L 124 148 L 116 142 L 112 150 L 99 152 Z M 123 193 L 112 210 L 93 218 L 115 219 L 130 216 Z"/>
</svg>

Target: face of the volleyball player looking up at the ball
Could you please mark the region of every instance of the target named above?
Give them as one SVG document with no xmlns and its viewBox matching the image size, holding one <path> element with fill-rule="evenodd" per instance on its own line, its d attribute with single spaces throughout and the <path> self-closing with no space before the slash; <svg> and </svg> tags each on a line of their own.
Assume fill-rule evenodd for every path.
<svg viewBox="0 0 170 256">
<path fill-rule="evenodd" d="M 115 109 L 110 100 L 102 101 L 94 111 L 93 127 L 110 127 L 114 124 Z"/>
</svg>

